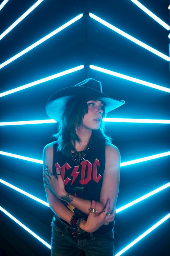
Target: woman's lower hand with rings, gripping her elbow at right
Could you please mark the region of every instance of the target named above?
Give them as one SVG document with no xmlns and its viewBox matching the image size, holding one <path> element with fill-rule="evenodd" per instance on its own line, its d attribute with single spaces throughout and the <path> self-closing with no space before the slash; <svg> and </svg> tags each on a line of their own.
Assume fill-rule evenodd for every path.
<svg viewBox="0 0 170 256">
<path fill-rule="evenodd" d="M 91 202 L 91 209 L 95 209 L 96 202 L 93 200 Z M 82 221 L 80 223 L 80 228 L 88 233 L 95 232 L 97 229 L 99 229 L 102 225 L 108 225 L 109 222 L 113 221 L 115 218 L 115 210 L 113 209 L 113 212 L 110 215 L 107 215 L 107 212 L 110 207 L 110 199 L 107 199 L 106 206 L 104 210 L 101 213 L 92 213 L 92 211 L 89 212 L 87 221 Z M 105 213 L 106 212 L 106 213 Z"/>
</svg>

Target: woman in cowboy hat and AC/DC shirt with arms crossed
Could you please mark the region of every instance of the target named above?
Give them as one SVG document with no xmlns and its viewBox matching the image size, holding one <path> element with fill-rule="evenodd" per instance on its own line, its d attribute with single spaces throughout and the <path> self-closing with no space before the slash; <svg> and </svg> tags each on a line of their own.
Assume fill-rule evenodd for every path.
<svg viewBox="0 0 170 256">
<path fill-rule="evenodd" d="M 120 154 L 102 130 L 105 113 L 121 106 L 86 79 L 54 93 L 46 112 L 60 123 L 43 151 L 52 221 L 51 256 L 113 256 Z"/>
</svg>

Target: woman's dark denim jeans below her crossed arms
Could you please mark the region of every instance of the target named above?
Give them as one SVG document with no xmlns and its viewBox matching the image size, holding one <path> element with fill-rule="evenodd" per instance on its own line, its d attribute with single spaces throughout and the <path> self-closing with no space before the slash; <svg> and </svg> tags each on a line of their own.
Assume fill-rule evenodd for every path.
<svg viewBox="0 0 170 256">
<path fill-rule="evenodd" d="M 90 233 L 90 239 L 75 239 L 65 231 L 58 228 L 52 221 L 51 256 L 114 256 L 113 230 L 104 235 L 95 236 Z M 71 228 L 76 232 L 75 228 Z"/>
</svg>

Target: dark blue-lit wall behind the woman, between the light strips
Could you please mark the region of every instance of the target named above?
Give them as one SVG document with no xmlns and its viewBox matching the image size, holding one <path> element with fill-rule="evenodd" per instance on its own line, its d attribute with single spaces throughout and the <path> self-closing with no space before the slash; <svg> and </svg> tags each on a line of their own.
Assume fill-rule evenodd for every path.
<svg viewBox="0 0 170 256">
<path fill-rule="evenodd" d="M 0 3 L 2 0 L 0 1 Z M 36 0 L 10 0 L 0 11 L 0 34 Z M 140 0 L 169 24 L 168 0 Z M 169 62 L 134 44 L 90 18 L 94 13 L 112 25 L 169 56 L 165 28 L 130 0 L 44 0 L 0 41 L 0 63 L 38 41 L 73 17 L 83 17 L 46 42 L 0 69 L 0 93 L 32 81 L 84 65 L 84 69 L 1 97 L 1 122 L 49 119 L 45 103 L 55 91 L 92 77 L 103 92 L 125 105 L 108 117 L 169 118 L 169 94 L 100 73 L 96 65 L 151 83 L 169 87 Z M 0 150 L 42 159 L 57 124 L 1 126 Z M 168 124 L 106 123 L 106 133 L 119 148 L 121 161 L 169 150 Z M 0 155 L 0 178 L 46 201 L 42 165 Z M 121 168 L 117 208 L 169 182 L 169 157 Z M 116 215 L 115 254 L 169 213 L 169 189 Z M 1 206 L 50 243 L 52 211 L 0 183 Z M 50 250 L 0 211 L 0 247 L 4 256 L 47 256 Z M 124 253 L 125 256 L 170 255 L 169 221 Z"/>
</svg>

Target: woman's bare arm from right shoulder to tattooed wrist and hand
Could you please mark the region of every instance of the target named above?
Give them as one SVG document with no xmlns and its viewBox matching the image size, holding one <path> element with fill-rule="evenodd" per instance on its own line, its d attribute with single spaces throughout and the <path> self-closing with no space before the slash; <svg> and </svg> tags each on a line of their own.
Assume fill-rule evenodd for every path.
<svg viewBox="0 0 170 256">
<path fill-rule="evenodd" d="M 48 149 L 47 149 L 48 150 Z M 106 146 L 106 164 L 105 171 L 103 176 L 103 183 L 100 194 L 100 202 L 96 202 L 96 210 L 98 213 L 103 211 L 103 208 L 106 204 L 107 198 L 111 199 L 110 202 L 110 212 L 113 209 L 113 206 L 117 199 L 118 189 L 119 189 L 119 172 L 120 172 L 120 154 L 117 147 L 113 145 Z M 56 173 L 59 174 L 60 170 L 56 168 Z M 75 208 L 80 211 L 88 214 L 91 202 L 90 200 L 85 200 L 79 197 L 70 195 L 65 191 L 64 182 L 61 176 L 58 176 L 56 179 L 54 176 L 50 181 L 50 188 L 54 194 L 70 203 Z"/>
</svg>

